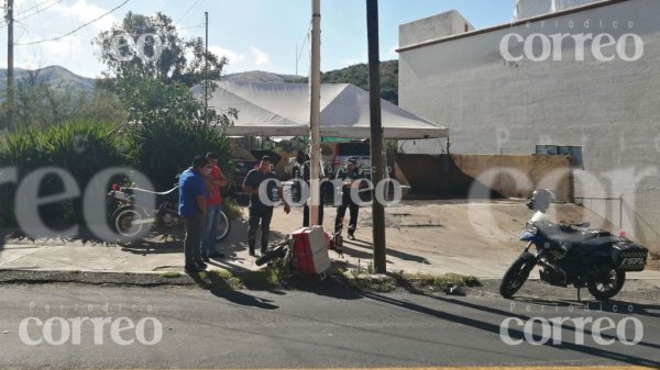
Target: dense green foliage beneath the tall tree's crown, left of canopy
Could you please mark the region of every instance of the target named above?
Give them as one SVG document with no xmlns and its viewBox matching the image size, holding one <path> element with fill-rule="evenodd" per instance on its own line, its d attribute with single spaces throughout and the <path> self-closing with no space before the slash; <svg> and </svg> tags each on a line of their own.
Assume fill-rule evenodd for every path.
<svg viewBox="0 0 660 370">
<path fill-rule="evenodd" d="M 187 87 L 156 78 L 122 79 L 118 90 L 129 111 L 123 131 L 129 161 L 157 189 L 170 187 L 195 155 L 217 152 L 221 167 L 228 169 L 230 147 L 222 128 L 233 124 L 235 110 L 226 114 L 209 110 L 205 115 L 204 103 Z"/>
</svg>

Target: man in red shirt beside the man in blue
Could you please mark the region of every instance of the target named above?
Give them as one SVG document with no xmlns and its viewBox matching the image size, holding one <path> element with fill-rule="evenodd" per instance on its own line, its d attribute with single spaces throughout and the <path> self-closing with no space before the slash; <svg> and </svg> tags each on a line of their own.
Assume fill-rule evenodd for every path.
<svg viewBox="0 0 660 370">
<path fill-rule="evenodd" d="M 220 188 L 227 186 L 227 179 L 220 167 L 218 167 L 218 155 L 209 152 L 207 153 L 207 159 L 211 166 L 211 173 L 206 177 L 207 214 L 201 238 L 201 259 L 205 262 L 209 262 L 211 257 L 224 257 L 224 255 L 216 251 L 216 237 L 218 236 L 218 220 L 222 210 Z"/>
</svg>

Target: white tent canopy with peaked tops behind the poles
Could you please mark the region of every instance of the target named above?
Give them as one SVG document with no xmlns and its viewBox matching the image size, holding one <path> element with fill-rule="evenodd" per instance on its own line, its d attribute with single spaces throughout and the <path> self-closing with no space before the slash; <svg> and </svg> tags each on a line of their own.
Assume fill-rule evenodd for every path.
<svg viewBox="0 0 660 370">
<path fill-rule="evenodd" d="M 195 93 L 201 89 L 196 87 Z M 381 100 L 385 138 L 447 137 L 448 130 Z M 309 134 L 306 83 L 218 83 L 209 108 L 239 110 L 228 135 L 296 136 Z M 369 92 L 350 83 L 321 83 L 321 136 L 370 137 Z"/>
</svg>

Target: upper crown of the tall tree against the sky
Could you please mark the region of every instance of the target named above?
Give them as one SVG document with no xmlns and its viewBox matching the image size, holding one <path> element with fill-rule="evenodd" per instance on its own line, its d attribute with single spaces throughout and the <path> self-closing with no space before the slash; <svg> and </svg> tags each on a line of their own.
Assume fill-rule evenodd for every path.
<svg viewBox="0 0 660 370">
<path fill-rule="evenodd" d="M 156 78 L 193 87 L 205 79 L 205 61 L 210 80 L 219 79 L 227 64 L 224 57 L 206 54 L 201 37 L 180 37 L 172 19 L 161 12 L 153 16 L 129 12 L 121 24 L 101 32 L 92 44 L 108 66 L 106 75 L 118 79 Z"/>
</svg>

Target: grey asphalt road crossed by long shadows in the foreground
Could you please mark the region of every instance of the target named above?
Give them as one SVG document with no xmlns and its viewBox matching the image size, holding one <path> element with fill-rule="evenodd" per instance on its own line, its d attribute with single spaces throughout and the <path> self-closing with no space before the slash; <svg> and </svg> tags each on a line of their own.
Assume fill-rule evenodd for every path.
<svg viewBox="0 0 660 370">
<path fill-rule="evenodd" d="M 587 312 L 531 298 L 356 293 L 332 284 L 316 292 L 8 284 L 0 296 L 2 369 L 660 368 L 660 306 L 648 304 L 592 302 Z M 571 321 L 552 327 L 541 317 Z M 591 321 L 601 317 L 598 333 Z M 525 325 L 537 335 L 526 339 Z"/>
</svg>

